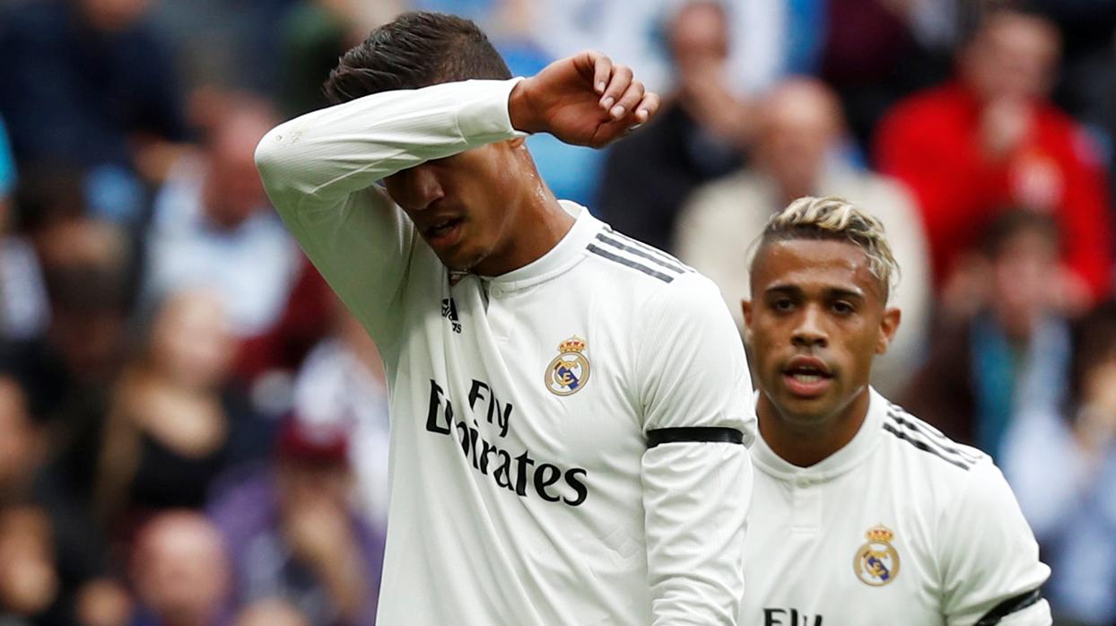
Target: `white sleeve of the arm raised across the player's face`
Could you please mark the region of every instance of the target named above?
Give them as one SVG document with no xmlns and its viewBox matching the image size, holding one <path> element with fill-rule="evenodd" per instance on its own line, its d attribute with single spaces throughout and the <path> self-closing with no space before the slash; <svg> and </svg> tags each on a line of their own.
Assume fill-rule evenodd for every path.
<svg viewBox="0 0 1116 626">
<path fill-rule="evenodd" d="M 256 148 L 268 196 L 307 256 L 381 349 L 397 334 L 414 245 L 411 221 L 375 186 L 401 170 L 522 136 L 518 79 L 384 92 L 302 115 Z"/>
</svg>

